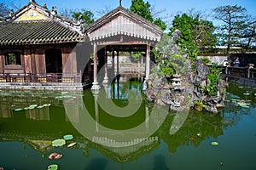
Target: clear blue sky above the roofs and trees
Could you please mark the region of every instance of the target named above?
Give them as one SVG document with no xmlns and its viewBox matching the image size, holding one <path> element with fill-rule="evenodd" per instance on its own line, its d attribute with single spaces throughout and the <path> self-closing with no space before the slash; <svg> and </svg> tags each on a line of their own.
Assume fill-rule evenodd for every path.
<svg viewBox="0 0 256 170">
<path fill-rule="evenodd" d="M 29 0 L 0 0 L 6 4 L 15 4 L 17 7 L 23 7 Z M 87 8 L 96 14 L 96 11 L 105 7 L 116 8 L 119 6 L 119 0 L 36 0 L 40 5 L 47 3 L 48 8 L 56 6 L 58 10 L 64 8 L 80 9 Z M 146 2 L 146 0 L 144 0 Z M 163 16 L 169 16 L 172 18 L 177 12 L 186 13 L 191 8 L 195 8 L 195 11 L 201 11 L 205 14 L 211 14 L 212 8 L 216 8 L 223 5 L 239 5 L 243 8 L 247 8 L 247 11 L 251 15 L 256 15 L 256 0 L 148 0 L 148 3 L 154 6 L 155 11 L 165 10 L 162 13 Z M 122 0 L 122 6 L 130 8 L 131 0 Z M 99 16 L 96 15 L 96 19 Z M 166 19 L 168 20 L 168 19 Z M 172 20 L 172 19 L 171 19 Z M 212 19 L 207 19 L 212 20 Z"/>
</svg>

